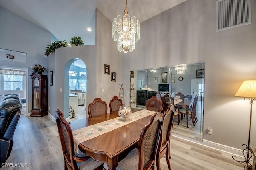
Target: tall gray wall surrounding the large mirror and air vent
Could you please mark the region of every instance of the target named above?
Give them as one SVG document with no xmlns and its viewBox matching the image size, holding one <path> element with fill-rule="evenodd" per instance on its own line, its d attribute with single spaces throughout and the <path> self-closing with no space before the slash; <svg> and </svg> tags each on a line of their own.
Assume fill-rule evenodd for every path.
<svg viewBox="0 0 256 170">
<path fill-rule="evenodd" d="M 122 53 L 122 76 L 130 70 L 205 61 L 203 138 L 244 149 L 250 104 L 234 95 L 244 80 L 256 79 L 256 1 L 251 2 L 252 24 L 219 32 L 216 1 L 186 1 L 144 21 L 136 49 Z M 255 104 L 252 113 L 251 145 L 256 146 Z"/>
</svg>

